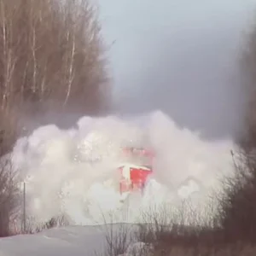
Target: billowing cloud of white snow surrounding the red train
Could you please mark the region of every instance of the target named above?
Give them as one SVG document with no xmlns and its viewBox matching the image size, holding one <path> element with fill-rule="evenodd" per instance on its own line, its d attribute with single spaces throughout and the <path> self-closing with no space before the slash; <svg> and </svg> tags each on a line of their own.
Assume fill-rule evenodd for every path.
<svg viewBox="0 0 256 256">
<path fill-rule="evenodd" d="M 192 194 L 205 204 L 218 178 L 232 172 L 231 141 L 204 141 L 161 112 L 148 113 L 143 125 L 139 119 L 84 117 L 69 131 L 47 125 L 20 138 L 13 166 L 26 182 L 29 226 L 61 215 L 70 224 L 102 224 L 110 221 L 108 212 L 112 222 L 134 223 L 142 210 L 176 205 Z M 116 166 L 119 148 L 131 144 L 150 145 L 156 159 L 144 195 L 131 196 L 128 205 L 120 202 Z"/>
</svg>

